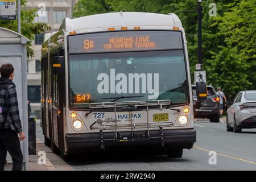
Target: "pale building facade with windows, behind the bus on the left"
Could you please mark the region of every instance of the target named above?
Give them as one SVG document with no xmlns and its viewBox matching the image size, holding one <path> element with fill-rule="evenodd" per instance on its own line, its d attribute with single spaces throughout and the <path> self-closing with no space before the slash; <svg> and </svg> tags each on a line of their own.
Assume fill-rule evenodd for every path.
<svg viewBox="0 0 256 182">
<path fill-rule="evenodd" d="M 38 10 L 35 22 L 44 22 L 51 26 L 53 31 L 58 31 L 65 17 L 72 18 L 72 9 L 76 0 L 28 0 L 25 9 Z M 32 42 L 35 57 L 27 60 L 27 85 L 28 101 L 31 105 L 31 115 L 40 118 L 40 84 L 41 84 L 41 48 L 44 34 L 35 35 Z"/>
</svg>

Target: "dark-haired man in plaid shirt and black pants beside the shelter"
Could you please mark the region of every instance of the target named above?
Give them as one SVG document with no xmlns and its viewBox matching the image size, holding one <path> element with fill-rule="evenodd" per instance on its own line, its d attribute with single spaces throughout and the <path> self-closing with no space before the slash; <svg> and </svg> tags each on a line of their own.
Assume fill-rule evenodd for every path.
<svg viewBox="0 0 256 182">
<path fill-rule="evenodd" d="M 13 160 L 13 171 L 21 171 L 23 155 L 20 140 L 25 138 L 25 134 L 19 118 L 13 65 L 3 64 L 0 73 L 0 171 L 5 169 L 7 151 Z"/>
</svg>

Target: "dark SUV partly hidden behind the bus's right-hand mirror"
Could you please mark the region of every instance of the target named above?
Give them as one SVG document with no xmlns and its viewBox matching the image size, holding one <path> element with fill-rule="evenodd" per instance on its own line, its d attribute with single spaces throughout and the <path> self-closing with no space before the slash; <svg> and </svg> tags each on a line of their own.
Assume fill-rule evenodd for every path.
<svg viewBox="0 0 256 182">
<path fill-rule="evenodd" d="M 193 108 L 195 118 L 208 118 L 210 122 L 220 121 L 220 98 L 218 98 L 216 91 L 212 86 L 207 86 L 207 100 L 203 102 L 203 105 L 196 109 L 196 86 L 192 85 L 193 93 Z"/>
</svg>

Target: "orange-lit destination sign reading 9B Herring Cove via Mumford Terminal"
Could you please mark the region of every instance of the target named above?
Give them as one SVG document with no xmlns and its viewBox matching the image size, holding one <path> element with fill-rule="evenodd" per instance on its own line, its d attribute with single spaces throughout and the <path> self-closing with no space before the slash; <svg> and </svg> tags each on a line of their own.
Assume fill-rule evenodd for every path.
<svg viewBox="0 0 256 182">
<path fill-rule="evenodd" d="M 124 31 L 69 36 L 69 53 L 181 48 L 181 32 L 177 31 Z"/>
</svg>

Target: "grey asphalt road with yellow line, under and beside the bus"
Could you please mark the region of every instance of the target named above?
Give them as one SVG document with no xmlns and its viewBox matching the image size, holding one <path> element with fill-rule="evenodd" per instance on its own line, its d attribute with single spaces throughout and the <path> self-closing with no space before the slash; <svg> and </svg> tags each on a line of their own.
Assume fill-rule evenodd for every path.
<svg viewBox="0 0 256 182">
<path fill-rule="evenodd" d="M 76 155 L 68 163 L 75 170 L 256 170 L 256 129 L 227 132 L 225 123 L 209 121 L 195 122 L 195 127 L 197 142 L 183 151 L 181 159 L 148 155 L 147 151 L 143 155 L 115 151 Z M 209 164 L 209 151 L 216 152 L 216 164 Z"/>
</svg>

